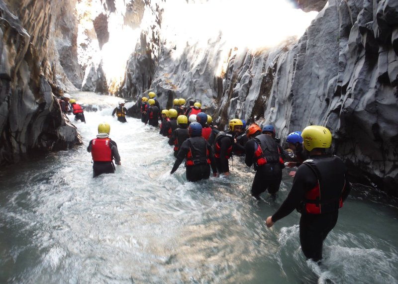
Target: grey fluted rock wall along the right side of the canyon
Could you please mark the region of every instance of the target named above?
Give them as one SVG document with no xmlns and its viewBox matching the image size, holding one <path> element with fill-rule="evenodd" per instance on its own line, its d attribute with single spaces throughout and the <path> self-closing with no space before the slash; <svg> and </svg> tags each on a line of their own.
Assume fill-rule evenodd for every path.
<svg viewBox="0 0 398 284">
<path fill-rule="evenodd" d="M 233 117 L 271 123 L 282 140 L 307 125 L 325 125 L 351 174 L 398 195 L 397 6 L 329 0 L 298 41 L 269 50 L 232 48 L 221 73 L 215 62 L 227 47 L 217 39 L 200 52 L 196 43 L 181 52 L 155 26 L 152 34 L 143 31 L 120 95 L 139 99 L 154 91 L 163 107 L 175 97 L 195 98 L 221 127 Z"/>
</svg>

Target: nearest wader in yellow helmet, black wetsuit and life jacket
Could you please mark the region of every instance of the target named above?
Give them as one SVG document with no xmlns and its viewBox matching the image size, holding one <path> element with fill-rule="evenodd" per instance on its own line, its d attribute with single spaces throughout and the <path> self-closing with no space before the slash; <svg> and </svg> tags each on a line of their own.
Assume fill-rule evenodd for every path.
<svg viewBox="0 0 398 284">
<path fill-rule="evenodd" d="M 281 207 L 266 220 L 272 227 L 294 209 L 301 213 L 299 236 L 301 250 L 307 259 L 322 259 L 322 246 L 327 234 L 334 228 L 339 208 L 350 192 L 346 167 L 334 155 L 326 154 L 332 135 L 326 127 L 311 125 L 301 133 L 309 159 L 297 170 L 290 190 Z"/>
</svg>

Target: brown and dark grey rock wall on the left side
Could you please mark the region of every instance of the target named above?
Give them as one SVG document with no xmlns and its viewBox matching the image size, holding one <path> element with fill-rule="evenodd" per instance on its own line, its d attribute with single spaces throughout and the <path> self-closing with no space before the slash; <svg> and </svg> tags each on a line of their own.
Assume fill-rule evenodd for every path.
<svg viewBox="0 0 398 284">
<path fill-rule="evenodd" d="M 66 149 L 79 142 L 76 127 L 62 116 L 54 95 L 62 91 L 53 65 L 58 62 L 57 51 L 49 47 L 48 40 L 51 17 L 57 16 L 53 6 L 49 1 L 7 4 L 0 1 L 1 165 L 17 162 L 30 152 Z"/>
</svg>

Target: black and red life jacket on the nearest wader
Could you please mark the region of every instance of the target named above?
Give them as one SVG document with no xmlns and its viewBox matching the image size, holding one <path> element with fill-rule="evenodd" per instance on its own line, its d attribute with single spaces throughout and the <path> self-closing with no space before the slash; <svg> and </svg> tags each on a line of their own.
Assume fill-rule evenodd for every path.
<svg viewBox="0 0 398 284">
<path fill-rule="evenodd" d="M 305 213 L 330 213 L 343 206 L 341 194 L 346 188 L 345 165 L 339 157 L 328 155 L 308 159 L 300 167 L 309 167 L 317 180 L 315 186 L 305 193 Z"/>
</svg>

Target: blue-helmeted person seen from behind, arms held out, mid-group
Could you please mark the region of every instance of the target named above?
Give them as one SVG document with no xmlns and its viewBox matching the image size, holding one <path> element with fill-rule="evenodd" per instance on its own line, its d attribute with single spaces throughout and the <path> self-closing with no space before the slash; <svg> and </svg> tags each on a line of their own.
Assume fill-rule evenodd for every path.
<svg viewBox="0 0 398 284">
<path fill-rule="evenodd" d="M 217 168 L 214 162 L 213 151 L 210 144 L 201 137 L 202 127 L 198 122 L 193 122 L 189 126 L 188 138 L 181 145 L 181 149 L 177 154 L 176 162 L 170 174 L 177 171 L 184 159 L 186 159 L 186 177 L 190 182 L 197 182 L 210 177 L 210 166 L 213 176 L 217 176 Z"/>
</svg>

